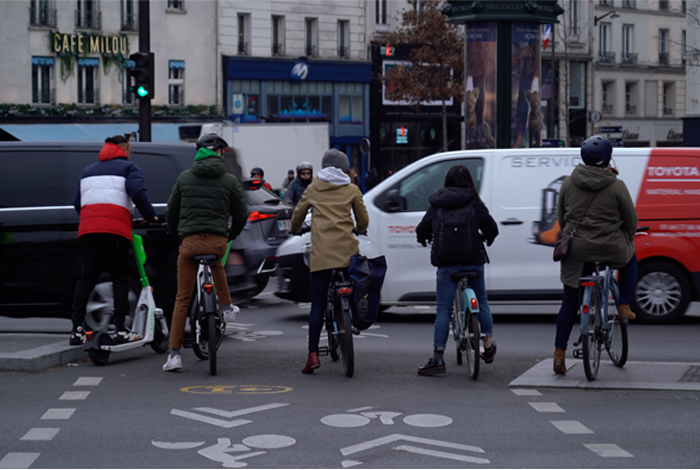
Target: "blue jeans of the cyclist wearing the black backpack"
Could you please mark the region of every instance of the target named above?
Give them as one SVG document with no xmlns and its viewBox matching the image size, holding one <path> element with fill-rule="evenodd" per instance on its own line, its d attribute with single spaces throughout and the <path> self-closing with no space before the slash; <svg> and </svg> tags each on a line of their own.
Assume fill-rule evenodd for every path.
<svg viewBox="0 0 700 470">
<path fill-rule="evenodd" d="M 433 346 L 439 351 L 445 350 L 447 337 L 450 334 L 450 317 L 454 306 L 455 293 L 457 292 L 457 281 L 452 280 L 452 274 L 458 271 L 477 271 L 479 277 L 469 282 L 474 289 L 476 299 L 479 301 L 479 324 L 481 332 L 486 336 L 493 336 L 493 319 L 489 299 L 486 297 L 486 282 L 484 281 L 484 265 L 477 264 L 471 266 L 443 266 L 437 270 L 437 311 L 435 316 L 435 335 Z"/>
</svg>

